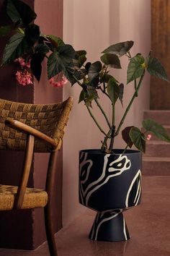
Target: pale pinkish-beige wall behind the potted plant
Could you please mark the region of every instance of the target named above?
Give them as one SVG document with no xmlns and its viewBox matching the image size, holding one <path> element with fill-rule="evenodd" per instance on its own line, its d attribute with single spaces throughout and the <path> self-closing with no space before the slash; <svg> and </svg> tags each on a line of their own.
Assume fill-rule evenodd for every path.
<svg viewBox="0 0 170 256">
<path fill-rule="evenodd" d="M 99 53 L 109 44 L 121 40 L 134 40 L 135 53 L 148 54 L 150 50 L 149 0 L 63 0 L 63 38 L 76 50 L 85 48 L 89 60 L 99 59 Z M 122 60 L 122 66 L 126 64 Z M 118 80 L 126 81 L 125 69 L 114 72 Z M 148 108 L 149 77 L 140 96 L 128 114 L 125 124 L 140 125 L 143 109 Z M 78 153 L 84 148 L 99 148 L 102 135 L 91 121 L 83 103 L 78 105 L 80 88 L 66 85 L 63 98 L 73 95 L 74 106 L 63 141 L 63 226 L 85 210 L 78 202 Z M 125 86 L 124 108 L 133 93 L 133 86 Z M 104 109 L 110 114 L 109 104 Z M 117 106 L 120 120 L 122 106 Z M 97 113 L 96 113 L 97 114 Z M 98 115 L 98 114 L 97 114 Z M 99 118 L 100 121 L 102 119 Z M 116 141 L 117 147 L 122 142 Z"/>
</svg>

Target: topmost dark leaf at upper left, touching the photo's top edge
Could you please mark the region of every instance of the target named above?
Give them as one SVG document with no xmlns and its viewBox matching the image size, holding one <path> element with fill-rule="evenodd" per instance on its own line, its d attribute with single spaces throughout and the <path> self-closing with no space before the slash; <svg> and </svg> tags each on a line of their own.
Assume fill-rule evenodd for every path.
<svg viewBox="0 0 170 256">
<path fill-rule="evenodd" d="M 24 26 L 35 20 L 37 14 L 32 9 L 19 0 L 8 0 L 6 12 L 14 23 L 22 22 Z"/>
</svg>

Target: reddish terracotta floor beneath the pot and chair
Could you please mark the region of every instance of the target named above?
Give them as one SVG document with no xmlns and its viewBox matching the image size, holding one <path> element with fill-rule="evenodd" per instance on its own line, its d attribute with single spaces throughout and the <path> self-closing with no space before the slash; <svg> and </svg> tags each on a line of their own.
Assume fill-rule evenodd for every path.
<svg viewBox="0 0 170 256">
<path fill-rule="evenodd" d="M 86 210 L 58 232 L 58 256 L 170 256 L 170 176 L 144 176 L 140 206 L 125 214 L 128 242 L 93 242 L 87 236 L 94 212 Z M 35 251 L 0 249 L 0 256 L 49 256 L 47 244 Z"/>
</svg>

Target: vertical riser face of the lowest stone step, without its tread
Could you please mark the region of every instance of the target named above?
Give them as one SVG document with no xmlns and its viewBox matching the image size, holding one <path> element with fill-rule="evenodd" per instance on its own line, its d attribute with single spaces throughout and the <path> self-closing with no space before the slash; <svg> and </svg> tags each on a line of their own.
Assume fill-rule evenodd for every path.
<svg viewBox="0 0 170 256">
<path fill-rule="evenodd" d="M 170 175 L 170 162 L 143 161 L 143 175 L 166 176 Z"/>
</svg>

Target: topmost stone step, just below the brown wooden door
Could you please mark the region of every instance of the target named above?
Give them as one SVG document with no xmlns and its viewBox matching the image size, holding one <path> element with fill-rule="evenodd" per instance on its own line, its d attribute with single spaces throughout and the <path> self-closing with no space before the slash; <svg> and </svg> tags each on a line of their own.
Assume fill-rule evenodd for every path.
<svg viewBox="0 0 170 256">
<path fill-rule="evenodd" d="M 169 110 L 146 110 L 143 114 L 143 119 L 153 119 L 159 124 L 170 124 Z"/>
</svg>

